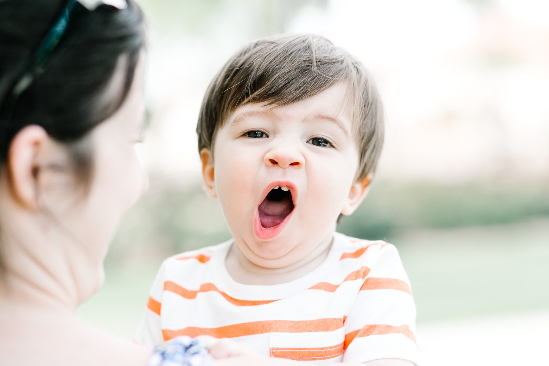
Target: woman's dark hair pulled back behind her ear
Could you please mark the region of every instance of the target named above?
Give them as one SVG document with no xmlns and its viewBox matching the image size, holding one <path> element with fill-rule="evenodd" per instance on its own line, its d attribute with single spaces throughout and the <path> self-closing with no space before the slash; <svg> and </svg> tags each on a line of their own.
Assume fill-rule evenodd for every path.
<svg viewBox="0 0 549 366">
<path fill-rule="evenodd" d="M 65 3 L 0 0 L 0 174 L 13 137 L 33 124 L 66 143 L 76 173 L 89 180 L 91 153 L 82 148 L 83 137 L 113 115 L 130 90 L 145 43 L 143 14 L 133 0 L 122 10 L 101 5 L 70 25 L 43 73 L 18 96 L 10 113 L 3 113 L 3 101 Z M 106 96 L 105 89 L 120 68 L 124 84 L 116 95 Z M 3 271 L 0 253 L 0 274 Z"/>
</svg>

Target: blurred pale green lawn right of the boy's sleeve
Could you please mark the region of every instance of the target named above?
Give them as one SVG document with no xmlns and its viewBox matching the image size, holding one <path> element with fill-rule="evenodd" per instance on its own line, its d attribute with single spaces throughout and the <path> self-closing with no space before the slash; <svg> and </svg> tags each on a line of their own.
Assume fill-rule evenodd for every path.
<svg viewBox="0 0 549 366">
<path fill-rule="evenodd" d="M 418 322 L 549 309 L 549 218 L 395 236 Z"/>
</svg>

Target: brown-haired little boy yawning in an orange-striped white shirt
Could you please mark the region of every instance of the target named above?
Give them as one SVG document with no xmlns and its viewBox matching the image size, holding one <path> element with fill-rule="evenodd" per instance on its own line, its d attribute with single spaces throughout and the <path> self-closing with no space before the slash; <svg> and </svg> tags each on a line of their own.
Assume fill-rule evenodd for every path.
<svg viewBox="0 0 549 366">
<path fill-rule="evenodd" d="M 197 126 L 205 190 L 232 239 L 164 261 L 136 340 L 209 335 L 265 357 L 419 364 L 395 247 L 335 232 L 366 195 L 383 123 L 371 77 L 326 38 L 268 37 L 234 54 Z"/>
</svg>

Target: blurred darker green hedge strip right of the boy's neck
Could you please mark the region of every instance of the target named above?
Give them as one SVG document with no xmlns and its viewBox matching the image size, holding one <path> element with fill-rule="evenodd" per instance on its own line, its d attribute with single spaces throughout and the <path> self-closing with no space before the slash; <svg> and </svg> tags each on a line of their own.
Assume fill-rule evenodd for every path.
<svg viewBox="0 0 549 366">
<path fill-rule="evenodd" d="M 390 238 L 413 228 L 501 225 L 549 216 L 546 182 L 462 185 L 374 182 L 357 211 L 338 230 L 368 239 Z"/>
</svg>

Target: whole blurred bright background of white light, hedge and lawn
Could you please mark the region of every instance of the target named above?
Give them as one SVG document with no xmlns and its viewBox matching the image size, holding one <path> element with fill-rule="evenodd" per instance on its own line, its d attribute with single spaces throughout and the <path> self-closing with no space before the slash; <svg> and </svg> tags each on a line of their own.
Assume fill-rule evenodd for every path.
<svg viewBox="0 0 549 366">
<path fill-rule="evenodd" d="M 339 231 L 399 249 L 419 328 L 549 312 L 547 2 L 139 3 L 150 32 L 142 152 L 151 185 L 121 223 L 83 318 L 131 338 L 161 261 L 229 239 L 200 183 L 201 96 L 244 42 L 280 32 L 327 36 L 378 82 L 383 158 Z"/>
</svg>

